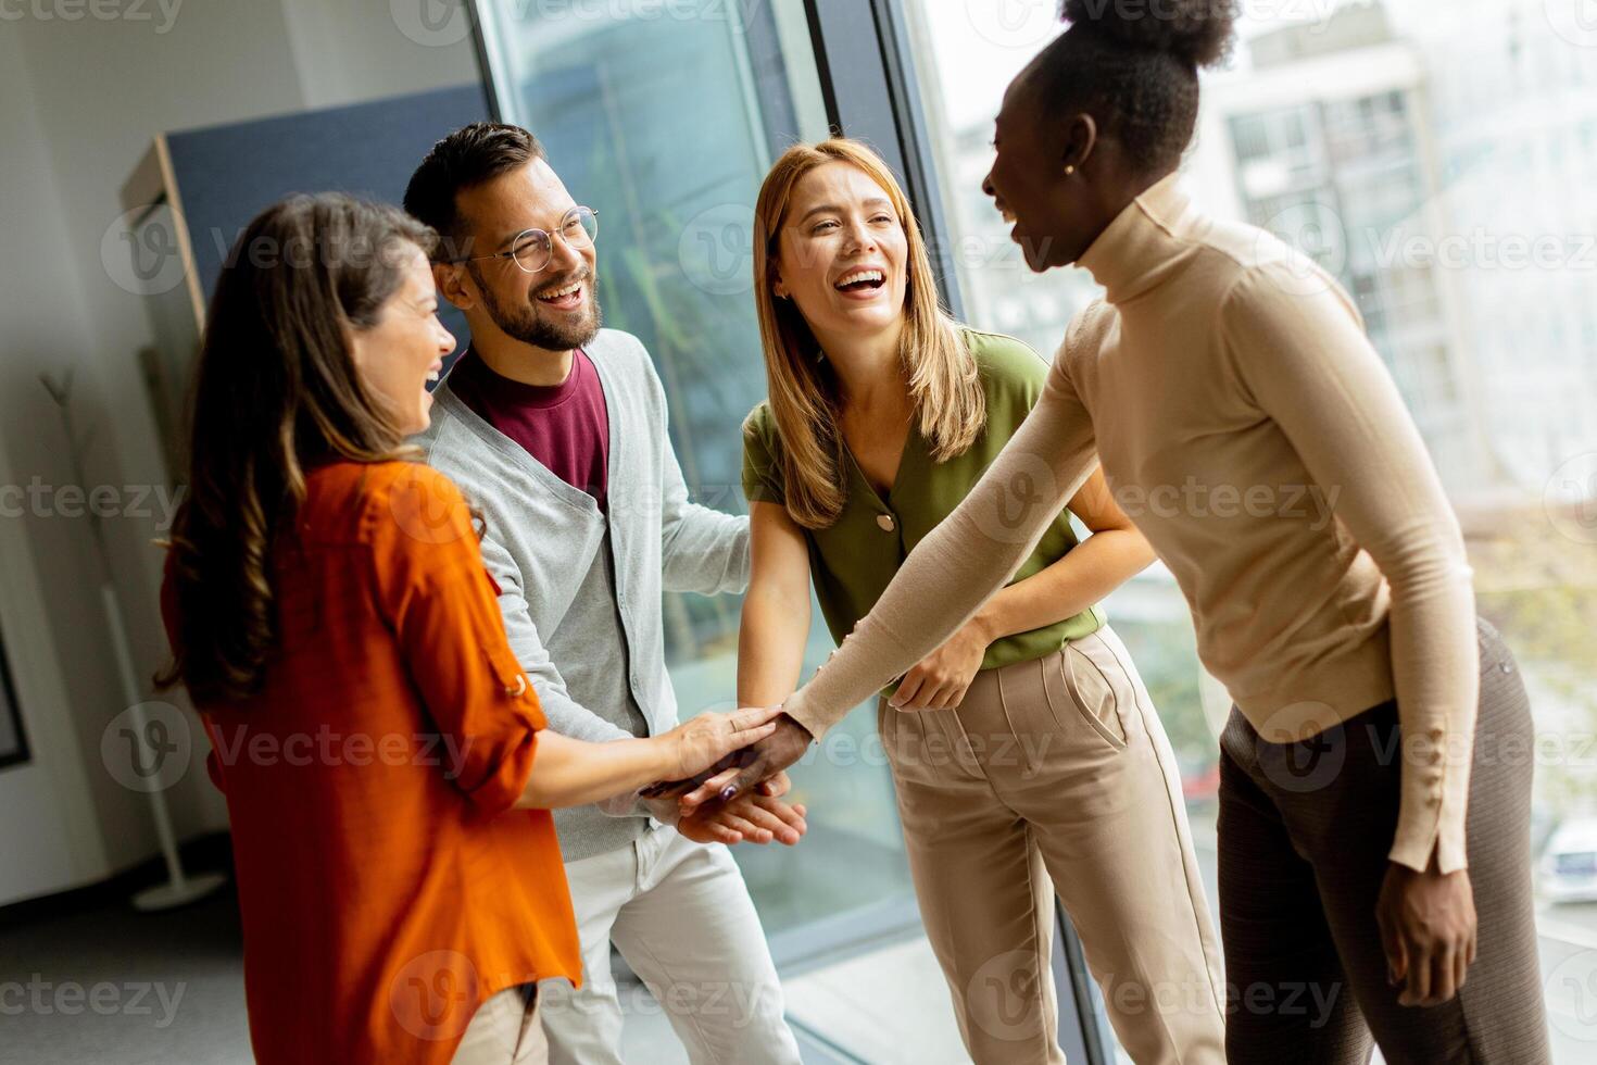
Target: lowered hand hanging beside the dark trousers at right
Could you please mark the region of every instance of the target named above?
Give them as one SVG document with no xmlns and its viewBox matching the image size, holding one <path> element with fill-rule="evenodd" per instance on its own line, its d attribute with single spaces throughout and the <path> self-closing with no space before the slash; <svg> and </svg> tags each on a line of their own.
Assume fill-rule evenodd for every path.
<svg viewBox="0 0 1597 1065">
<path fill-rule="evenodd" d="M 1417 873 L 1391 862 L 1375 920 L 1386 952 L 1386 979 L 1402 984 L 1404 1006 L 1437 1006 L 1464 985 L 1476 960 L 1476 896 L 1464 869 Z"/>
</svg>

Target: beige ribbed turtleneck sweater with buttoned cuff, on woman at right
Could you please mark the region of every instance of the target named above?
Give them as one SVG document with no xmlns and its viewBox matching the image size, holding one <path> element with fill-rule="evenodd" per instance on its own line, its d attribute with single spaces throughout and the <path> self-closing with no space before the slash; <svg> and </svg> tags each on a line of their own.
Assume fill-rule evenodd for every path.
<svg viewBox="0 0 1597 1065">
<path fill-rule="evenodd" d="M 1463 869 L 1479 688 L 1458 522 L 1356 308 L 1318 265 L 1169 176 L 1081 257 L 1032 415 L 784 704 L 816 739 L 1000 589 L 1096 463 L 1175 575 L 1204 666 L 1266 741 L 1397 698 L 1391 859 Z M 1335 758 L 1335 752 L 1329 757 Z M 1396 757 L 1396 755 L 1394 755 Z"/>
</svg>

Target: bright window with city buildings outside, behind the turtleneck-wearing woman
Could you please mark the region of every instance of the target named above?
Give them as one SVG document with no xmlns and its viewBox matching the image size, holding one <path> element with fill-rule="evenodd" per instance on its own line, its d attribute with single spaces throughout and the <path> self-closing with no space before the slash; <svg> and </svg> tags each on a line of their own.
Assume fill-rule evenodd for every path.
<svg viewBox="0 0 1597 1065">
<path fill-rule="evenodd" d="M 907 6 L 965 311 L 1051 353 L 1099 292 L 1081 270 L 1027 271 L 979 182 L 1057 3 Z M 1209 211 L 1294 241 L 1354 295 L 1460 513 L 1479 610 L 1532 691 L 1541 961 L 1570 1063 L 1597 1043 L 1597 30 L 1578 8 L 1242 5 L 1183 161 Z M 1163 568 L 1107 607 L 1180 757 L 1214 905 L 1228 699 Z"/>
</svg>

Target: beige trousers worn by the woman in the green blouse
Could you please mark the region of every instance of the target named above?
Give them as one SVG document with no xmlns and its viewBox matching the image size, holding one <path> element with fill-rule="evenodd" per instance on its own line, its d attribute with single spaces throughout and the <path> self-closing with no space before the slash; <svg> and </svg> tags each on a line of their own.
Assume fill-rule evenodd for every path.
<svg viewBox="0 0 1597 1065">
<path fill-rule="evenodd" d="M 878 704 L 915 894 L 979 1063 L 1064 1062 L 1059 899 L 1139 1065 L 1225 1062 L 1220 947 L 1180 778 L 1108 628 L 977 674 L 950 711 Z"/>
</svg>

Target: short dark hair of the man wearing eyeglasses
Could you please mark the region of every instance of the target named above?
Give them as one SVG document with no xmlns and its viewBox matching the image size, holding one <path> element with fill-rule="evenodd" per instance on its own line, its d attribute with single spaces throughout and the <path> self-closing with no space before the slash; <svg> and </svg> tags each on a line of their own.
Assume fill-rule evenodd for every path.
<svg viewBox="0 0 1597 1065">
<path fill-rule="evenodd" d="M 433 145 L 410 174 L 404 209 L 438 230 L 438 259 L 470 254 L 455 196 L 517 166 L 546 158 L 538 139 L 521 126 L 474 121 Z"/>
</svg>

